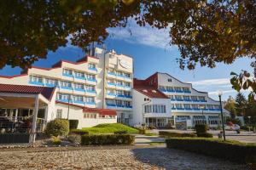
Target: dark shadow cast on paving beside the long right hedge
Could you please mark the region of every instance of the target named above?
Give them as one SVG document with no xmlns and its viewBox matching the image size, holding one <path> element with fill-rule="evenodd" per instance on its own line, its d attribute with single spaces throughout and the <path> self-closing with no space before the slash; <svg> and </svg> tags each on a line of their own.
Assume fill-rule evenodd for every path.
<svg viewBox="0 0 256 170">
<path fill-rule="evenodd" d="M 164 169 L 246 169 L 230 161 L 167 148 L 136 148 L 132 150 L 137 161 Z"/>
</svg>

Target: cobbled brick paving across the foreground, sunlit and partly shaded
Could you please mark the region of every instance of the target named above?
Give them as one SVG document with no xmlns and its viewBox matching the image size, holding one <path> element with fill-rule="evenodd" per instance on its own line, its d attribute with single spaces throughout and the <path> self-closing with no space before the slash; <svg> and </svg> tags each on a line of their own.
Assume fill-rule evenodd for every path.
<svg viewBox="0 0 256 170">
<path fill-rule="evenodd" d="M 246 169 L 230 161 L 161 147 L 2 150 L 0 169 Z"/>
</svg>

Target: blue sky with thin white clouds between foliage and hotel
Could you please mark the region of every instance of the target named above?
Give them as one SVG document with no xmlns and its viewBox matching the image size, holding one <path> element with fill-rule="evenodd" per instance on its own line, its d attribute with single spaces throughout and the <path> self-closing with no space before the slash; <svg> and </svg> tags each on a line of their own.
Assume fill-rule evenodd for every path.
<svg viewBox="0 0 256 170">
<path fill-rule="evenodd" d="M 208 92 L 212 99 L 218 99 L 217 90 L 224 92 L 224 99 L 236 97 L 237 92 L 230 85 L 231 71 L 253 71 L 250 59 L 236 59 L 232 65 L 218 64 L 213 69 L 198 65 L 193 71 L 183 71 L 177 64 L 180 53 L 176 46 L 169 45 L 171 38 L 167 30 L 139 27 L 131 22 L 126 28 L 111 28 L 108 32 L 110 35 L 105 41 L 107 49 L 133 57 L 134 77 L 143 79 L 156 71 L 166 72 L 182 82 L 191 82 L 195 89 Z M 34 65 L 49 68 L 60 59 L 75 61 L 84 55 L 81 49 L 67 45 L 55 53 L 49 52 L 47 59 L 40 59 Z M 18 67 L 6 66 L 0 70 L 0 75 L 13 76 L 20 74 L 20 71 Z M 247 91 L 242 93 L 248 94 Z"/>
</svg>

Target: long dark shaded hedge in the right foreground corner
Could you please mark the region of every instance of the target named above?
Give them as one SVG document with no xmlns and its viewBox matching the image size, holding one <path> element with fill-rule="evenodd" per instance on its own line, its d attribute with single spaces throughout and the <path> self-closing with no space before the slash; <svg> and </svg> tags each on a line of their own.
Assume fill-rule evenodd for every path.
<svg viewBox="0 0 256 170">
<path fill-rule="evenodd" d="M 166 139 L 167 148 L 191 151 L 224 160 L 256 166 L 256 144 L 202 138 Z"/>
</svg>

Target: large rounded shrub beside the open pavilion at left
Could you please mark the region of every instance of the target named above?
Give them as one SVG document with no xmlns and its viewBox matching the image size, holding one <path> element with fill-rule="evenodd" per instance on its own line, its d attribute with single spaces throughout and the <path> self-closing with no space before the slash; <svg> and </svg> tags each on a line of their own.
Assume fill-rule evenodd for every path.
<svg viewBox="0 0 256 170">
<path fill-rule="evenodd" d="M 45 131 L 49 136 L 63 136 L 69 132 L 69 123 L 66 119 L 55 119 L 47 123 Z"/>
</svg>

